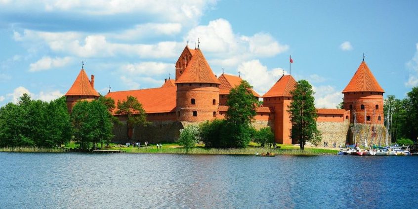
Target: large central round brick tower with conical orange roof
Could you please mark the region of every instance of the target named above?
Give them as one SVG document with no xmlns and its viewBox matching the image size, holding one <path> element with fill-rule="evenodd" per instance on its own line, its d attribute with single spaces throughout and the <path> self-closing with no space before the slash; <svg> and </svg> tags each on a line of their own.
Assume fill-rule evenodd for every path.
<svg viewBox="0 0 418 209">
<path fill-rule="evenodd" d="M 188 50 L 187 46 L 186 49 Z M 175 84 L 177 121 L 199 122 L 216 117 L 220 83 L 199 48 L 194 50 L 190 62 L 180 73 L 180 77 L 176 78 Z"/>
</svg>

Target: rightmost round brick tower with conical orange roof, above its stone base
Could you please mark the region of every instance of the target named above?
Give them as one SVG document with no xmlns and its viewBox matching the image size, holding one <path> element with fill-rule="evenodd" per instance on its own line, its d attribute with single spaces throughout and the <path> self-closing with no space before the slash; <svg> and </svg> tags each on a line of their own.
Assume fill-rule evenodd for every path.
<svg viewBox="0 0 418 209">
<path fill-rule="evenodd" d="M 383 93 L 375 77 L 363 60 L 342 91 L 344 109 L 350 110 L 350 123 L 383 124 Z"/>
</svg>

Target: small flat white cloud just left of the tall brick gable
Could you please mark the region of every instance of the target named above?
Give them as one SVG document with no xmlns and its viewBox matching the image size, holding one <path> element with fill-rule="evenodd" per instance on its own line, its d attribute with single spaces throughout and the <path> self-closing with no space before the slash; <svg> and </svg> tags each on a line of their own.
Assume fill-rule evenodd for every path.
<svg viewBox="0 0 418 209">
<path fill-rule="evenodd" d="M 141 62 L 136 64 L 126 64 L 121 67 L 123 73 L 131 75 L 162 75 L 173 72 L 174 64 L 162 62 Z"/>
</svg>

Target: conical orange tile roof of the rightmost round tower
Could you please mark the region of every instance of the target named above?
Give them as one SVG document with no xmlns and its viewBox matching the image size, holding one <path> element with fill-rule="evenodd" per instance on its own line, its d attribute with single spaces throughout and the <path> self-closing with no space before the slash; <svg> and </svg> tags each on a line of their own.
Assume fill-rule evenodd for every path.
<svg viewBox="0 0 418 209">
<path fill-rule="evenodd" d="M 348 83 L 342 93 L 362 91 L 384 93 L 383 88 L 377 83 L 375 76 L 373 76 L 365 61 L 361 62 L 350 83 Z"/>
</svg>

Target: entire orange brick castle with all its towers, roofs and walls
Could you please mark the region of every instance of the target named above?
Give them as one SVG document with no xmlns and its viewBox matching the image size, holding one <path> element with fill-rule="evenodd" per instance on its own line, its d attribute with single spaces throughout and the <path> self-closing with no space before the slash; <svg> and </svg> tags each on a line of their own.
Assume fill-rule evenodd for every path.
<svg viewBox="0 0 418 209">
<path fill-rule="evenodd" d="M 135 140 L 174 141 L 179 129 L 190 123 L 223 119 L 228 110 L 229 91 L 241 81 L 239 76 L 224 73 L 216 77 L 200 48 L 186 46 L 175 63 L 175 79 L 166 79 L 161 87 L 114 91 L 106 97 L 113 98 L 115 105 L 129 95 L 142 103 L 147 121 L 152 125 L 129 130 Z M 263 99 L 263 105 L 256 109 L 253 126 L 270 126 L 277 143 L 297 143 L 290 138 L 292 125 L 288 113 L 288 105 L 293 100 L 290 92 L 295 84 L 291 75 L 284 75 L 262 96 L 251 89 L 254 97 Z M 383 124 L 384 91 L 364 60 L 342 93 L 344 109 L 317 109 L 318 129 L 323 141 L 330 144 L 349 142 L 350 124 L 369 124 L 372 128 Z M 82 69 L 65 96 L 69 111 L 78 101 L 96 99 L 99 94 L 94 89 L 94 76 L 89 80 Z M 113 114 L 125 122 L 125 116 L 116 115 L 116 110 Z M 125 125 L 115 125 L 113 141 L 126 142 L 125 133 Z"/>
</svg>

